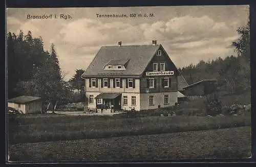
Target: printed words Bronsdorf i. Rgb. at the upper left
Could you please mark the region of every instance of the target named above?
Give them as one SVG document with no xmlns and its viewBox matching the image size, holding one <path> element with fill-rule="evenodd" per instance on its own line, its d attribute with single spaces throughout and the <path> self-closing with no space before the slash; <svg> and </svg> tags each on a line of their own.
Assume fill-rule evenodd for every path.
<svg viewBox="0 0 256 167">
<path fill-rule="evenodd" d="M 70 14 L 42 14 L 42 15 L 33 15 L 27 14 L 27 19 L 72 19 Z"/>
</svg>

